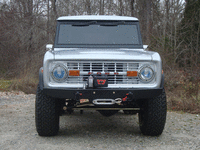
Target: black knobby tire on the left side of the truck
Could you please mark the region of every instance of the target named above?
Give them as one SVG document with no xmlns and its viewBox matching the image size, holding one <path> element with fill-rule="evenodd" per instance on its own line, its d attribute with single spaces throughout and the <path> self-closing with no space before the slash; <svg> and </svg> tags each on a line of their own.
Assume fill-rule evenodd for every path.
<svg viewBox="0 0 200 150">
<path fill-rule="evenodd" d="M 35 101 L 36 129 L 40 136 L 54 136 L 59 130 L 59 105 L 38 86 Z"/>
</svg>

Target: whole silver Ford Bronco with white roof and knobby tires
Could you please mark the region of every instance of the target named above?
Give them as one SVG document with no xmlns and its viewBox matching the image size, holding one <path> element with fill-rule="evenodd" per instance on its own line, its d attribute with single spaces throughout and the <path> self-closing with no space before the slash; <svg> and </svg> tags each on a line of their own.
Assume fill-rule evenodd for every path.
<svg viewBox="0 0 200 150">
<path fill-rule="evenodd" d="M 35 121 L 40 136 L 56 135 L 59 116 L 74 110 L 139 116 L 142 134 L 157 136 L 166 121 L 162 62 L 142 44 L 139 21 L 122 16 L 57 19 L 54 45 L 39 71 Z"/>
</svg>

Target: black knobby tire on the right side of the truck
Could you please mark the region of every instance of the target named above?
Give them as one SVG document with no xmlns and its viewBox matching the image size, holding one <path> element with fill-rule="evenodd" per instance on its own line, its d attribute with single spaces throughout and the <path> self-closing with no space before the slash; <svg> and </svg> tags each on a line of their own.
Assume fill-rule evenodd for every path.
<svg viewBox="0 0 200 150">
<path fill-rule="evenodd" d="M 158 136 L 162 134 L 166 122 L 166 94 L 144 100 L 139 112 L 140 130 L 144 135 Z"/>
</svg>

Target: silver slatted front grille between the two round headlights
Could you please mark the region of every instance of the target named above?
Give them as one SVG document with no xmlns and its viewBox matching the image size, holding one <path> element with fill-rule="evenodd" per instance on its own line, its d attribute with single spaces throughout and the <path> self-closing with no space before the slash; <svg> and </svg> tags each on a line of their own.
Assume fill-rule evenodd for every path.
<svg viewBox="0 0 200 150">
<path fill-rule="evenodd" d="M 90 74 L 107 76 L 108 84 L 139 84 L 138 77 L 127 77 L 126 73 L 138 71 L 139 63 L 118 63 L 118 62 L 67 62 L 68 70 L 80 70 L 80 76 L 69 76 L 67 83 L 86 83 Z"/>
</svg>

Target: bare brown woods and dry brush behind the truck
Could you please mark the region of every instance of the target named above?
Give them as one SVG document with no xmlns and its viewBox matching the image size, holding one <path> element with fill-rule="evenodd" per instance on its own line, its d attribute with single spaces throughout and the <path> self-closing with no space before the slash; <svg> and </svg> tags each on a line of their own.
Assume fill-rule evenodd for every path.
<svg viewBox="0 0 200 150">
<path fill-rule="evenodd" d="M 163 61 L 168 109 L 200 113 L 200 0 L 1 0 L 0 90 L 35 93 L 56 18 L 134 16 Z"/>
</svg>

